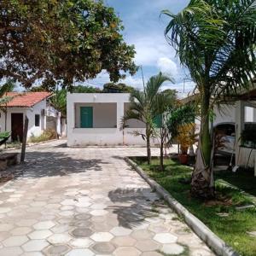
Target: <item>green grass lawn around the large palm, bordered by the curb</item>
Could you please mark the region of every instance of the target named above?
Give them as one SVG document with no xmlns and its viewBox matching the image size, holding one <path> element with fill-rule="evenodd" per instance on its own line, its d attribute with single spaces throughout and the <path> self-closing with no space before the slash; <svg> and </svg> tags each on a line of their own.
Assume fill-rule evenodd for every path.
<svg viewBox="0 0 256 256">
<path fill-rule="evenodd" d="M 236 210 L 237 206 L 252 202 L 249 196 L 241 193 L 236 187 L 255 195 L 255 177 L 247 177 L 245 173 L 218 172 L 216 175 L 217 199 L 204 202 L 191 198 L 190 185 L 179 182 L 180 178 L 191 176 L 192 171 L 188 166 L 181 166 L 174 160 L 165 160 L 165 172 L 160 172 L 157 159 L 152 161 L 151 166 L 148 166 L 144 159 L 134 158 L 133 160 L 237 252 L 247 256 L 256 255 L 256 238 L 247 235 L 247 231 L 256 231 L 255 207 L 245 211 Z M 218 213 L 228 214 L 220 214 L 221 217 Z"/>
</svg>

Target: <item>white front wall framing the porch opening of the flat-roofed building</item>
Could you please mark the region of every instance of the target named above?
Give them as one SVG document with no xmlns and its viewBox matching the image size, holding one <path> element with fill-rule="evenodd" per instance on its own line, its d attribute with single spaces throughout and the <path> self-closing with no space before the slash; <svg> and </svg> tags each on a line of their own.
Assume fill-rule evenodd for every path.
<svg viewBox="0 0 256 256">
<path fill-rule="evenodd" d="M 87 145 L 145 145 L 142 137 L 134 137 L 131 135 L 130 132 L 137 130 L 136 128 L 125 129 L 125 131 L 120 130 L 120 121 L 124 116 L 125 103 L 129 102 L 129 98 L 130 94 L 128 93 L 67 93 L 67 145 L 70 147 Z M 81 103 L 83 103 L 84 106 L 96 106 L 96 104 L 98 104 L 99 107 L 109 107 L 102 103 L 113 103 L 112 106 L 116 106 L 116 108 L 112 107 L 112 110 L 106 108 L 107 111 L 104 117 L 98 116 L 98 118 L 102 119 L 102 121 L 99 120 L 100 124 L 106 125 L 106 121 L 109 120 L 109 124 L 116 124 L 117 127 L 76 128 L 76 126 L 78 126 L 76 119 L 79 119 L 79 111 L 76 111 L 76 106 L 81 106 Z M 109 113 L 110 111 L 111 113 Z M 113 116 L 113 119 L 111 116 Z M 108 119 L 106 117 L 108 117 Z M 96 120 L 95 113 L 94 120 Z M 144 132 L 144 129 L 141 130 Z"/>
</svg>

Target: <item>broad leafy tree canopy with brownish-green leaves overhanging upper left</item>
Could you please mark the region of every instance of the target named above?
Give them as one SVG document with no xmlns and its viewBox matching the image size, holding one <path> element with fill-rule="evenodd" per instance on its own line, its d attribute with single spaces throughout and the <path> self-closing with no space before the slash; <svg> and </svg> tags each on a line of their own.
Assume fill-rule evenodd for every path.
<svg viewBox="0 0 256 256">
<path fill-rule="evenodd" d="M 0 80 L 71 87 L 106 70 L 117 81 L 137 70 L 122 30 L 102 1 L 0 1 Z"/>
</svg>

